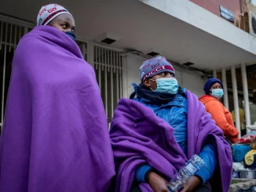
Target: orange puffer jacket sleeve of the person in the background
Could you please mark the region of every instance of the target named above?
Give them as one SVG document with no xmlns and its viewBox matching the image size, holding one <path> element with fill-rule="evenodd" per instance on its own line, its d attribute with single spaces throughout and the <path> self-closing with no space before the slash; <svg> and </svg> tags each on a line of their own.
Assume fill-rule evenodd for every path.
<svg viewBox="0 0 256 192">
<path fill-rule="evenodd" d="M 212 118 L 216 122 L 216 125 L 222 129 L 224 135 L 230 139 L 232 143 L 236 143 L 239 132 L 237 131 L 236 127 L 230 125 L 225 118 L 225 112 L 220 103 L 215 101 L 207 103 L 207 111 L 211 114 Z"/>
</svg>

